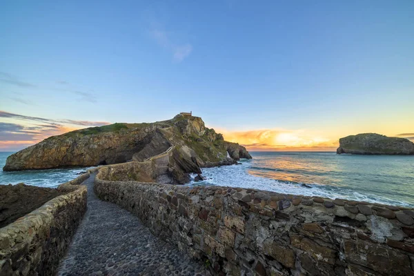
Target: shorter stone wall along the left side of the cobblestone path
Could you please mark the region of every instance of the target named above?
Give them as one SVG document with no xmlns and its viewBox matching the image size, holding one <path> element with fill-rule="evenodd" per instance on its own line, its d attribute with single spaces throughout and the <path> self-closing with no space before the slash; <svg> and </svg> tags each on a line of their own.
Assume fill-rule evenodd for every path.
<svg viewBox="0 0 414 276">
<path fill-rule="evenodd" d="M 0 228 L 0 275 L 55 275 L 86 211 L 86 186 L 79 184 L 88 177 L 61 184 L 64 195 Z"/>
</svg>

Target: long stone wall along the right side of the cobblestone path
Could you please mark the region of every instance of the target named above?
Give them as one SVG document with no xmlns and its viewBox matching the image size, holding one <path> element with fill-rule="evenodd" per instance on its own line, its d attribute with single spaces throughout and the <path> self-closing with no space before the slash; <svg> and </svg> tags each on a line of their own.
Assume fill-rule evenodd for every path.
<svg viewBox="0 0 414 276">
<path fill-rule="evenodd" d="M 412 209 L 101 175 L 95 191 L 217 275 L 414 275 Z"/>
</svg>

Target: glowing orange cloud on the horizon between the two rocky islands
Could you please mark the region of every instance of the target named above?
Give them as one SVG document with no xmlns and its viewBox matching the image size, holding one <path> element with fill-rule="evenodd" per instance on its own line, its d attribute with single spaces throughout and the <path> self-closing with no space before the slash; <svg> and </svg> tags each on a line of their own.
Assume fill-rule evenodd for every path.
<svg viewBox="0 0 414 276">
<path fill-rule="evenodd" d="M 335 150 L 332 141 L 305 130 L 248 130 L 230 132 L 221 130 L 224 139 L 246 146 L 248 150 Z"/>
</svg>

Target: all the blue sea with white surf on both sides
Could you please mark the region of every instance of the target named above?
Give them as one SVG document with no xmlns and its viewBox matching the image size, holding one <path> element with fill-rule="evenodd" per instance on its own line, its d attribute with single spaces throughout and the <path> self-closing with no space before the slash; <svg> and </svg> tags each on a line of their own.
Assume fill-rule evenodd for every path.
<svg viewBox="0 0 414 276">
<path fill-rule="evenodd" d="M 12 152 L 0 152 L 0 167 Z M 335 152 L 250 152 L 241 164 L 203 168 L 204 181 L 219 185 L 414 207 L 414 156 L 337 155 Z M 56 187 L 86 168 L 3 172 L 0 184 Z M 195 175 L 193 175 L 195 177 Z"/>
</svg>

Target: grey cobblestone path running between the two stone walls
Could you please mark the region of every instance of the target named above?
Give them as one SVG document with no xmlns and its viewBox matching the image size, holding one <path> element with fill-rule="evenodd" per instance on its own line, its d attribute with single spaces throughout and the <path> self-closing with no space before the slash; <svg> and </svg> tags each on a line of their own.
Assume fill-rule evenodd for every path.
<svg viewBox="0 0 414 276">
<path fill-rule="evenodd" d="M 201 262 L 158 239 L 138 217 L 93 191 L 95 174 L 88 186 L 88 209 L 57 275 L 210 275 Z"/>
</svg>

